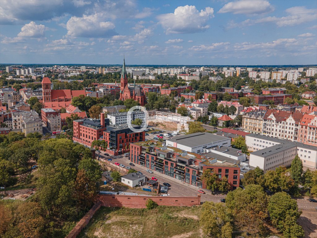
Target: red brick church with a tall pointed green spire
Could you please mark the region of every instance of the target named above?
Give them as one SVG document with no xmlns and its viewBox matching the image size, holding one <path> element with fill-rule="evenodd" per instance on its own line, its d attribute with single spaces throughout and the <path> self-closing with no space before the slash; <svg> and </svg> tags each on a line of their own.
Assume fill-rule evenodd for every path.
<svg viewBox="0 0 317 238">
<path fill-rule="evenodd" d="M 128 76 L 126 74 L 126 63 L 123 58 L 123 66 L 121 73 L 121 85 L 120 85 L 120 100 L 124 101 L 126 99 L 133 99 L 140 103 L 141 106 L 144 106 L 146 103 L 145 93 L 140 86 L 135 85 L 135 81 L 133 87 L 128 85 Z"/>
</svg>

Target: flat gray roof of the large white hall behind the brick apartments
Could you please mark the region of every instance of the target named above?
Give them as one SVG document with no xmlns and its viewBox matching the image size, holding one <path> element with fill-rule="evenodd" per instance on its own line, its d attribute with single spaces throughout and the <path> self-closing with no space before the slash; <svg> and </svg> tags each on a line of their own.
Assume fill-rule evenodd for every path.
<svg viewBox="0 0 317 238">
<path fill-rule="evenodd" d="M 196 147 L 225 140 L 230 140 L 230 138 L 225 136 L 217 136 L 207 132 L 197 132 L 189 135 L 178 136 L 175 138 L 168 139 L 168 141 L 176 142 L 178 144 L 188 147 Z"/>
</svg>

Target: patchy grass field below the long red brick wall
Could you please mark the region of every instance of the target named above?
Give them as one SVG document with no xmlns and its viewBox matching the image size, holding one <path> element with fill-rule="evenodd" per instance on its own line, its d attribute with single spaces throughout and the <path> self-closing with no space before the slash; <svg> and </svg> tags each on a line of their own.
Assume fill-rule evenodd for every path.
<svg viewBox="0 0 317 238">
<path fill-rule="evenodd" d="M 153 210 L 102 207 L 78 237 L 202 237 L 197 216 L 200 209 L 165 206 Z"/>
</svg>

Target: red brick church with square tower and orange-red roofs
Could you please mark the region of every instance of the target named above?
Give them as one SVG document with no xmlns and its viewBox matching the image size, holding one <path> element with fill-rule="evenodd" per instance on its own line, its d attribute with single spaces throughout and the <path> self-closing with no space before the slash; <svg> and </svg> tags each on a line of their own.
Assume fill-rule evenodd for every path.
<svg viewBox="0 0 317 238">
<path fill-rule="evenodd" d="M 72 102 L 72 98 L 78 97 L 79 95 L 86 96 L 86 90 L 52 90 L 52 83 L 49 78 L 44 77 L 42 80 L 43 108 L 51 108 L 54 110 L 67 108 Z"/>
</svg>

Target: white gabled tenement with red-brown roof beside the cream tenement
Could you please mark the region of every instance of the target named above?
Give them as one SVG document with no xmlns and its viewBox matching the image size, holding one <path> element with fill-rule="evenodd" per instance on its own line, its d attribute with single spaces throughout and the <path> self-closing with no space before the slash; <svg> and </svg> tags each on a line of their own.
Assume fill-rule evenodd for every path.
<svg viewBox="0 0 317 238">
<path fill-rule="evenodd" d="M 268 109 L 263 117 L 264 136 L 297 141 L 302 113 Z"/>
</svg>

